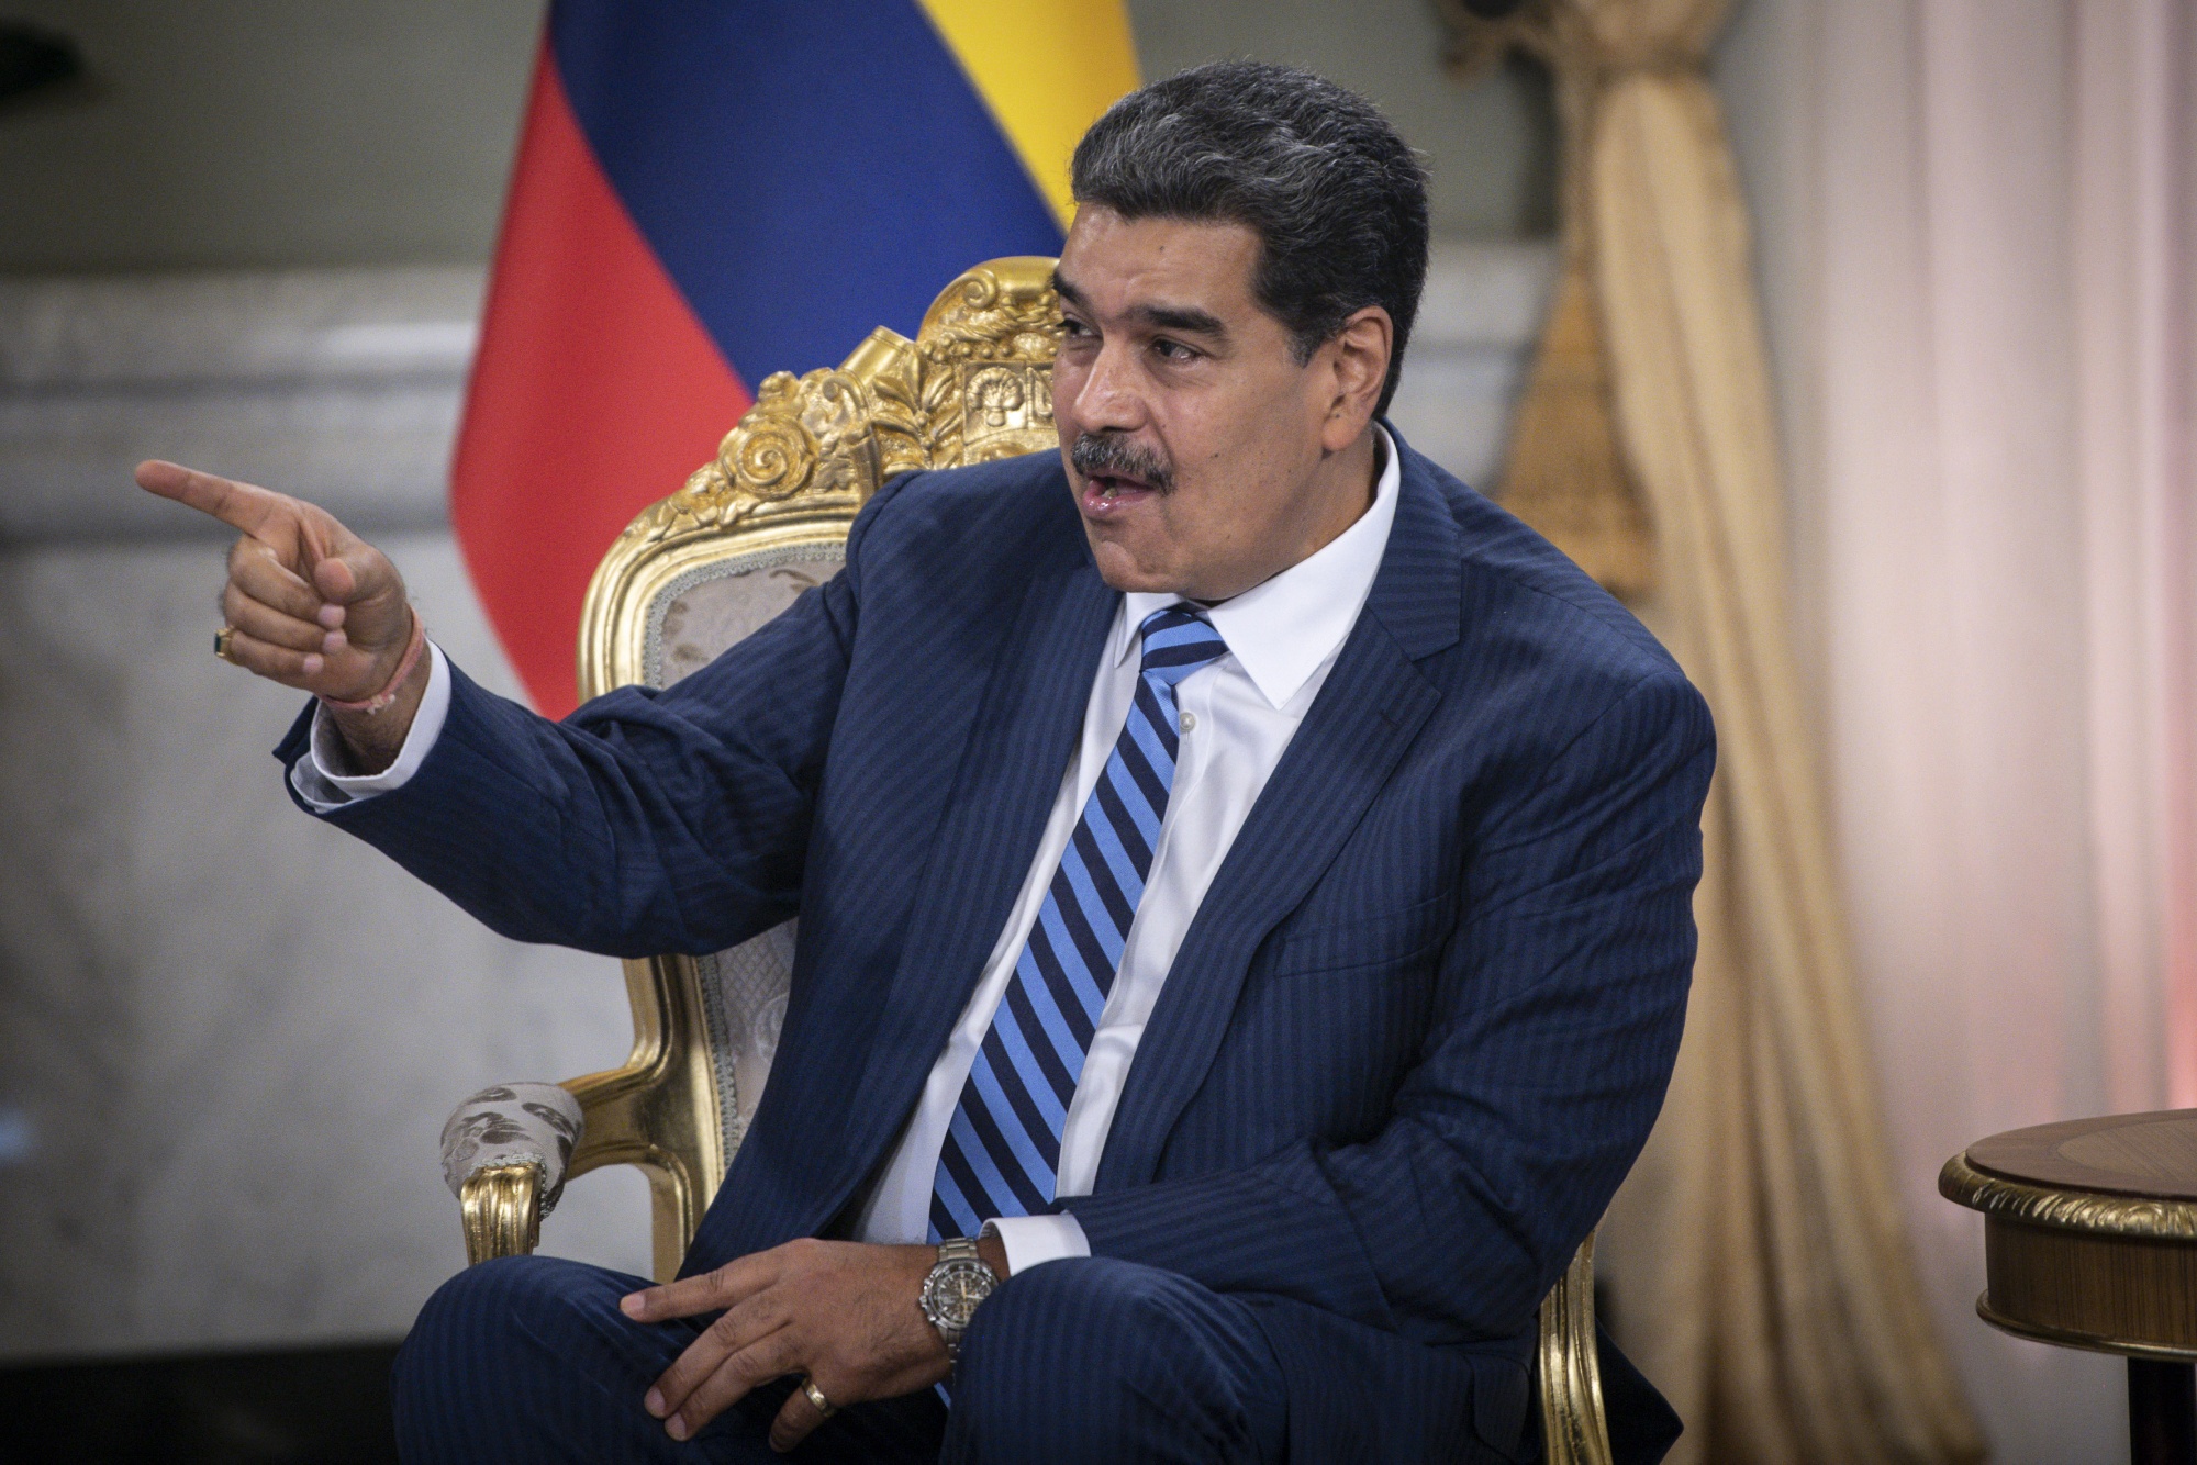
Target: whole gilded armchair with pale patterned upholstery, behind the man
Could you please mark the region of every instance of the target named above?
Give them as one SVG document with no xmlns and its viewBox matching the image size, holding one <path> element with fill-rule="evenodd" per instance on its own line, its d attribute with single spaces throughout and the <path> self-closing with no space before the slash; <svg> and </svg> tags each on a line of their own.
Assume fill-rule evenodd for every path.
<svg viewBox="0 0 2197 1465">
<path fill-rule="evenodd" d="M 892 474 L 1057 450 L 1050 272 L 1050 259 L 986 261 L 947 286 L 914 340 L 879 327 L 837 369 L 765 380 L 716 459 L 598 567 L 582 696 L 670 685 L 830 578 Z M 707 958 L 626 962 L 624 1067 L 468 1100 L 444 1136 L 468 1259 L 532 1252 L 565 1177 L 633 1164 L 650 1182 L 655 1272 L 672 1276 L 769 1076 L 793 942 L 787 922 Z M 1593 1239 L 1542 1302 L 1540 1382 L 1549 1458 L 1608 1461 Z"/>
</svg>

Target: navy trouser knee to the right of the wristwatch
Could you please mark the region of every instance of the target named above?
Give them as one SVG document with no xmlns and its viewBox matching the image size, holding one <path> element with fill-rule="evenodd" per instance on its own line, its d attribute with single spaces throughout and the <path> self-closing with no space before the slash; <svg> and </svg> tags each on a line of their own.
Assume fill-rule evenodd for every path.
<svg viewBox="0 0 2197 1465">
<path fill-rule="evenodd" d="M 1173 1272 L 1048 1261 L 993 1291 L 962 1338 L 951 1461 L 1257 1458 L 1257 1324 Z M 1202 1447 L 1200 1447 L 1202 1445 Z"/>
</svg>

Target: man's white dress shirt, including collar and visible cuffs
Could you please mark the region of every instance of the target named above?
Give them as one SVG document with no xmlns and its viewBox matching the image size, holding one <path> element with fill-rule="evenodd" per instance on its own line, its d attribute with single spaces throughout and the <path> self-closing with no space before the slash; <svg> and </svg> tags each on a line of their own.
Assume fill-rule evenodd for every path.
<svg viewBox="0 0 2197 1465">
<path fill-rule="evenodd" d="M 1145 1019 L 1160 999 L 1191 918 L 1252 804 L 1259 802 L 1259 791 L 1265 789 L 1298 723 L 1320 694 L 1373 589 L 1382 551 L 1389 547 L 1389 527 L 1395 523 L 1402 479 L 1395 444 L 1380 428 L 1375 433 L 1382 472 L 1373 505 L 1318 553 L 1235 600 L 1211 606 L 1206 615 L 1228 644 L 1228 655 L 1175 685 L 1175 705 L 1182 709 L 1175 782 L 1145 879 L 1145 898 L 1136 907 L 1123 947 L 1120 971 L 1098 1015 L 1083 1078 L 1068 1105 L 1055 1195 L 1090 1195 L 1107 1129 L 1114 1125 L 1114 1107 L 1120 1103 L 1129 1063 L 1145 1035 Z M 1083 709 L 1083 738 L 1061 775 L 1046 835 L 1030 859 L 1006 927 L 984 962 L 975 993 L 953 1024 L 938 1063 L 932 1065 L 923 1098 L 901 1131 L 890 1164 L 863 1201 L 855 1226 L 859 1241 L 916 1243 L 929 1237 L 932 1179 L 938 1175 L 947 1125 L 960 1105 L 962 1085 L 969 1081 L 969 1067 L 984 1043 L 991 1017 L 1006 995 L 1022 947 L 1030 938 L 1030 925 L 1046 901 L 1061 852 L 1129 716 L 1142 661 L 1138 628 L 1147 615 L 1180 600 L 1145 591 L 1123 595 Z M 301 758 L 292 775 L 299 795 L 325 813 L 356 797 L 402 786 L 433 749 L 448 707 L 450 672 L 437 648 L 411 734 L 395 762 L 373 775 L 334 773 L 343 764 L 334 758 L 336 734 L 323 709 L 314 720 L 312 758 Z M 1011 1272 L 1061 1256 L 1090 1256 L 1083 1228 L 1070 1215 L 1002 1217 L 989 1221 L 986 1230 L 1006 1248 Z"/>
</svg>

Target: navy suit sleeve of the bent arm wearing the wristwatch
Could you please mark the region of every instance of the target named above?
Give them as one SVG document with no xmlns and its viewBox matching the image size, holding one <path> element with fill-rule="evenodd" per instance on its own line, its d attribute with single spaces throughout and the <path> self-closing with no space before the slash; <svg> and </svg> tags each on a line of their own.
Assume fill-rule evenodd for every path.
<svg viewBox="0 0 2197 1465">
<path fill-rule="evenodd" d="M 1516 1338 L 1663 1103 L 1711 762 L 1674 670 L 1615 698 L 1483 828 L 1384 1127 L 1063 1201 L 1092 1252 L 1419 1342 Z"/>
</svg>

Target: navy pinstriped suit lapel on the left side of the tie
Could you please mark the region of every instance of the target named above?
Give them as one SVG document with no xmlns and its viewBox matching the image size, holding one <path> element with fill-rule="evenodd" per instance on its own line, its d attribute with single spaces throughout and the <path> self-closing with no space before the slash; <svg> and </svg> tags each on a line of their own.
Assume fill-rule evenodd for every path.
<svg viewBox="0 0 2197 1465">
<path fill-rule="evenodd" d="M 1098 578 L 1081 534 L 1030 575 L 962 751 L 947 815 L 932 843 L 923 894 L 848 1114 L 852 1186 L 896 1133 L 953 1019 L 969 1004 L 1044 837 L 1046 817 L 1083 729 L 1092 670 L 1118 595 Z"/>
</svg>

